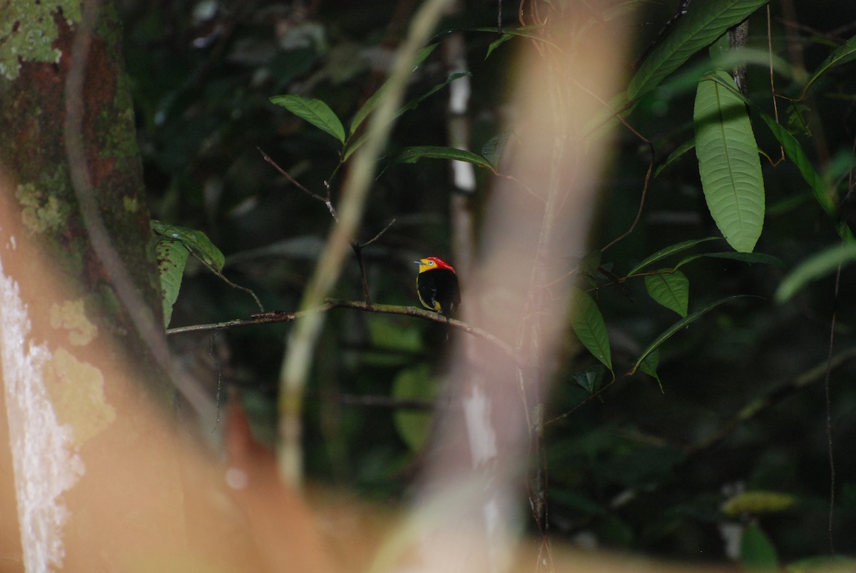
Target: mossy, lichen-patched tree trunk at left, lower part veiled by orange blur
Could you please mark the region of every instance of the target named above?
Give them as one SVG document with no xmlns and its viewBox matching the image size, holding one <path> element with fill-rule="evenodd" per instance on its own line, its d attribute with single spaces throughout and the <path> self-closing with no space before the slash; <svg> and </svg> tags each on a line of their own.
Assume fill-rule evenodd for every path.
<svg viewBox="0 0 856 573">
<path fill-rule="evenodd" d="M 109 1 L 0 7 L 3 570 L 122 570 L 185 536 L 178 459 L 146 413 L 169 385 L 119 31 Z"/>
</svg>

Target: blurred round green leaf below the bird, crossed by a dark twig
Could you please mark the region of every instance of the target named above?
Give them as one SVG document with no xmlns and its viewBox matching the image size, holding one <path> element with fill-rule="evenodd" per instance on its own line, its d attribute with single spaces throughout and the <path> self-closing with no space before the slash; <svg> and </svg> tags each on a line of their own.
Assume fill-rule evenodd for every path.
<svg viewBox="0 0 856 573">
<path fill-rule="evenodd" d="M 437 384 L 431 378 L 431 367 L 421 364 L 401 371 L 392 384 L 392 396 L 399 400 L 434 400 Z M 431 431 L 431 412 L 396 409 L 395 429 L 411 451 L 420 451 Z"/>
</svg>

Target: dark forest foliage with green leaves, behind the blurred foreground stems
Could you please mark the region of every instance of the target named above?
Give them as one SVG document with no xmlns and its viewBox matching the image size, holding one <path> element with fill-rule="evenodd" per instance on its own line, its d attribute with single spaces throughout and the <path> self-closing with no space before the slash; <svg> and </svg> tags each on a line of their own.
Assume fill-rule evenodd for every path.
<svg viewBox="0 0 856 573">
<path fill-rule="evenodd" d="M 746 566 L 807 564 L 833 541 L 854 552 L 856 8 L 710 0 L 675 19 L 679 4 L 591 15 L 626 21 L 634 38 L 626 88 L 591 119 L 592 138 L 608 123 L 616 135 L 589 251 L 562 261 L 579 290 L 548 403 L 550 528 L 557 539 Z M 467 195 L 477 219 L 504 175 L 515 48 L 549 51 L 550 41 L 521 26 L 516 3 L 501 6 L 502 29 L 496 3 L 469 3 L 419 54 L 358 237 L 386 229 L 362 252 L 372 301 L 415 305 L 412 261 L 454 255 L 449 160 L 478 168 Z M 300 304 L 407 21 L 393 3 L 315 8 L 125 9 L 153 229 L 175 285 L 170 326 Z M 748 35 L 735 41 L 742 21 Z M 452 32 L 466 39 L 467 72 L 443 63 Z M 734 80 L 741 65 L 745 83 Z M 465 78 L 468 149 L 446 133 L 449 85 Z M 336 295 L 360 300 L 360 279 L 354 261 Z M 287 332 L 171 341 L 212 392 L 238 388 L 272 442 Z M 407 496 L 444 335 L 410 317 L 330 313 L 304 420 L 312 479 Z"/>
</svg>

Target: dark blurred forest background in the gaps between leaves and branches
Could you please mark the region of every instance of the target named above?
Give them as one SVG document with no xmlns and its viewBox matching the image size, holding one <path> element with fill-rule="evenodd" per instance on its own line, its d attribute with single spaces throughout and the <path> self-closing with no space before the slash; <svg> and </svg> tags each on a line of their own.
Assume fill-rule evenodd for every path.
<svg viewBox="0 0 856 573">
<path fill-rule="evenodd" d="M 265 163 L 257 147 L 315 193 L 324 193 L 338 160 L 337 142 L 270 104 L 296 93 L 330 105 L 348 126 L 383 83 L 391 51 L 416 3 L 401 2 L 128 2 L 122 6 L 125 50 L 133 86 L 146 188 L 152 217 L 204 231 L 226 255 L 224 273 L 259 295 L 267 309 L 295 309 L 330 225 L 322 203 L 302 193 Z M 517 25 L 518 3 L 502 3 L 503 26 Z M 622 18 L 634 31 L 632 62 L 675 13 L 675 2 L 639 4 Z M 468 2 L 437 30 L 496 26 L 496 3 Z M 856 34 L 856 4 L 848 1 L 770 4 L 773 51 L 794 66 L 776 75 L 782 96 L 799 98 L 807 75 Z M 766 49 L 767 15 L 750 19 L 750 45 Z M 473 97 L 468 114 L 478 152 L 502 133 L 514 52 L 523 39 L 485 59 L 494 33 L 465 32 Z M 443 39 L 439 35 L 437 39 Z M 706 51 L 694 61 L 706 57 Z M 824 75 L 799 104 L 777 100 L 783 124 L 798 135 L 838 200 L 853 167 L 856 64 Z M 807 71 L 806 71 L 807 70 Z M 417 71 L 408 98 L 442 83 L 449 71 L 436 51 Z M 628 65 L 627 77 L 633 74 Z M 667 81 L 666 87 L 669 87 Z M 770 72 L 749 69 L 749 97 L 772 113 Z M 447 90 L 401 116 L 381 160 L 361 239 L 396 223 L 364 254 L 372 300 L 417 304 L 414 258 L 451 258 L 448 165 L 437 160 L 393 164 L 404 146 L 448 145 Z M 650 139 L 662 162 L 693 135 L 694 88 L 657 90 L 630 121 Z M 807 128 L 801 128 L 804 123 Z M 780 151 L 753 118 L 758 145 Z M 639 208 L 648 148 L 619 129 L 603 176 L 591 248 L 620 235 Z M 784 561 L 828 551 L 829 457 L 823 377 L 797 391 L 789 385 L 829 354 L 830 319 L 837 310 L 834 353 L 854 346 L 853 269 L 845 266 L 840 295 L 833 277 L 809 284 L 792 301 L 772 295 L 795 264 L 838 242 L 830 221 L 793 164 L 764 160 L 767 217 L 758 253 L 784 266 L 701 259 L 682 268 L 690 280 L 690 311 L 728 295 L 734 301 L 693 323 L 661 349 L 657 381 L 645 374 L 619 379 L 601 397 L 548 427 L 550 522 L 555 539 L 596 540 L 600 546 L 669 558 L 725 559 L 719 526 L 759 520 Z M 492 179 L 479 170 L 477 210 Z M 333 199 L 341 172 L 330 182 Z M 602 264 L 621 277 L 646 256 L 676 242 L 718 235 L 704 204 L 694 152 L 652 179 L 645 211 L 631 236 L 610 248 Z M 725 242 L 701 250 L 727 250 Z M 697 251 L 699 250 L 697 249 Z M 568 254 L 568 270 L 578 259 Z M 454 263 L 454 259 L 453 259 Z M 513 262 L 509 272 L 514 272 Z M 496 280 L 502 280 L 497 277 Z M 605 276 L 592 295 L 609 327 L 616 373 L 679 317 L 645 294 L 642 279 L 627 288 Z M 463 285 L 466 289 L 466 284 Z M 359 300 L 360 280 L 348 261 L 336 296 Z M 257 312 L 253 299 L 229 288 L 199 264 L 188 266 L 171 325 L 210 323 Z M 501 309 L 497 309 L 501 312 Z M 172 337 L 211 392 L 240 390 L 259 437 L 274 439 L 277 376 L 288 325 Z M 339 311 L 330 313 L 318 348 L 306 417 L 310 478 L 354 489 L 368 498 L 407 496 L 419 451 L 408 447 L 401 412 L 359 402 L 361 397 L 413 396 L 408 382 L 431 397 L 444 353 L 442 329 L 422 320 Z M 559 415 L 586 400 L 575 376 L 597 361 L 568 340 L 552 388 Z M 603 374 L 601 372 L 601 374 Z M 835 541 L 856 551 L 856 388 L 853 364 L 829 380 L 835 444 Z M 403 381 L 402 381 L 403 380 Z M 603 385 L 609 377 L 601 378 Z M 747 403 L 768 392 L 775 403 L 751 421 L 723 430 Z M 417 393 L 419 393 L 417 392 Z M 781 399 L 779 399 L 781 398 Z M 399 415 L 395 412 L 398 411 Z M 552 416 L 548 416 L 552 417 Z M 699 448 L 722 432 L 721 442 Z M 785 511 L 729 517 L 721 505 L 741 488 L 794 496 Z"/>
</svg>

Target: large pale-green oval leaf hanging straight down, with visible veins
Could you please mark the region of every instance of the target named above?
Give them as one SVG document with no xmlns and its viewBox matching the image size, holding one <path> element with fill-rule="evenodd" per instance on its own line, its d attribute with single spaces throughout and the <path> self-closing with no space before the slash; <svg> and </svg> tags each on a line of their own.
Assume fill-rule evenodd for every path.
<svg viewBox="0 0 856 573">
<path fill-rule="evenodd" d="M 693 122 L 698 174 L 710 215 L 725 240 L 751 253 L 764 226 L 764 177 L 758 144 L 731 76 L 698 82 Z"/>
</svg>

